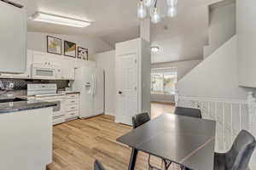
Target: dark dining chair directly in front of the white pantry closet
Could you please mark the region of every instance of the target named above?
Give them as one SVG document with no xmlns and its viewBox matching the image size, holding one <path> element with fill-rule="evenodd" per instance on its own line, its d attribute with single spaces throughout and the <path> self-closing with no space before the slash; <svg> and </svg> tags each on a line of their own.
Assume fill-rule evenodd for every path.
<svg viewBox="0 0 256 170">
<path fill-rule="evenodd" d="M 133 128 L 140 127 L 148 121 L 150 121 L 150 116 L 148 115 L 147 112 L 139 113 L 135 116 L 132 116 L 132 127 Z M 133 150 L 131 152 L 131 156 L 133 156 Z M 166 169 L 168 169 L 171 162 L 165 161 L 165 160 L 162 160 L 162 161 L 164 162 Z M 153 168 L 158 169 L 157 167 L 154 167 L 153 165 L 151 165 L 151 163 L 150 163 L 150 154 L 148 155 L 148 167 L 149 167 L 148 169 L 153 169 Z"/>
</svg>

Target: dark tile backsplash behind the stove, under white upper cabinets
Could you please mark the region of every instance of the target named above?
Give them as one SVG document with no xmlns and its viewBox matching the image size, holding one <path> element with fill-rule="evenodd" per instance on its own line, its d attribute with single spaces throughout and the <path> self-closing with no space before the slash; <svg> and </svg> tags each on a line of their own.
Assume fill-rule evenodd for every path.
<svg viewBox="0 0 256 170">
<path fill-rule="evenodd" d="M 22 79 L 2 79 L 0 81 L 3 82 L 4 87 L 8 87 L 10 82 L 14 82 L 15 90 L 26 90 L 27 84 L 29 83 L 55 83 L 57 84 L 57 88 L 67 88 L 68 82 L 67 80 L 22 80 Z"/>
</svg>

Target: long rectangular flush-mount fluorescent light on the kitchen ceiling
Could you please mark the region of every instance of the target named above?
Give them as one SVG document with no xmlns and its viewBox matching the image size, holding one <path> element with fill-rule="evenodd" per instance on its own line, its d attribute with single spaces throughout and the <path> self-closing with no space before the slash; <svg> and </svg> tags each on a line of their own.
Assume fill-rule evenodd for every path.
<svg viewBox="0 0 256 170">
<path fill-rule="evenodd" d="M 74 27 L 85 27 L 90 26 L 90 22 L 84 20 L 75 20 L 63 16 L 58 16 L 55 14 L 45 14 L 37 12 L 32 15 L 32 20 L 47 22 L 51 24 L 58 24 L 64 26 L 74 26 Z"/>
</svg>

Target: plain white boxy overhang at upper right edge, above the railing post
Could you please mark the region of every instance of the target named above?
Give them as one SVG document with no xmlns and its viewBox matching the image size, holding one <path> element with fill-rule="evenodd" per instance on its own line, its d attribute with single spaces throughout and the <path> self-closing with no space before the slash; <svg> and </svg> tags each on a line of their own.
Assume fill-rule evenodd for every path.
<svg viewBox="0 0 256 170">
<path fill-rule="evenodd" d="M 256 1 L 236 1 L 239 85 L 256 88 Z"/>
</svg>

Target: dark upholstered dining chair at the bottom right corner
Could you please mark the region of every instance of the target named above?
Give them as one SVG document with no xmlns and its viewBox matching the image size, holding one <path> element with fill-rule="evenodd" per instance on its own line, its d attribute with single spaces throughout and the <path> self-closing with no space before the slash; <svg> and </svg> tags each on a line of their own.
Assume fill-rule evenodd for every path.
<svg viewBox="0 0 256 170">
<path fill-rule="evenodd" d="M 255 145 L 253 135 L 242 130 L 228 152 L 214 154 L 214 170 L 246 170 Z"/>
</svg>

